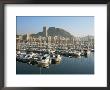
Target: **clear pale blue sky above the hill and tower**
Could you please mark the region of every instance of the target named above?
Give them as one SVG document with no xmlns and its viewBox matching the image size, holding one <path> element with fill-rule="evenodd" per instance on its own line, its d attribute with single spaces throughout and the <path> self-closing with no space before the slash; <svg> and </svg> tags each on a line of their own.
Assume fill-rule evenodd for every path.
<svg viewBox="0 0 110 90">
<path fill-rule="evenodd" d="M 94 16 L 16 16 L 17 34 L 38 33 L 43 26 L 62 28 L 72 35 L 94 35 Z"/>
</svg>

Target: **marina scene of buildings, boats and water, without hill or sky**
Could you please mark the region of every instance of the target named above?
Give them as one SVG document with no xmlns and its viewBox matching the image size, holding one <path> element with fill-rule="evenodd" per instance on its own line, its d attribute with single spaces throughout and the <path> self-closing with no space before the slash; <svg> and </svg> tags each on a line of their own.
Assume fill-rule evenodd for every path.
<svg viewBox="0 0 110 90">
<path fill-rule="evenodd" d="M 27 34 L 25 39 L 21 36 L 16 38 L 17 74 L 94 74 L 93 37 L 87 36 L 86 39 L 82 39 L 47 36 L 46 27 L 43 29 L 45 36 L 34 38 Z M 75 63 L 80 64 L 76 66 Z M 29 71 L 31 68 L 37 71 Z M 57 69 L 51 71 L 51 68 Z"/>
</svg>

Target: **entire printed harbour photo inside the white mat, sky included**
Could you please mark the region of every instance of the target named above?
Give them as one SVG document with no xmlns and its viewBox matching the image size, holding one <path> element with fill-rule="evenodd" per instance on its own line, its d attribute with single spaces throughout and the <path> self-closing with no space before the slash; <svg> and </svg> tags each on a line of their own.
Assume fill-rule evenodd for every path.
<svg viewBox="0 0 110 90">
<path fill-rule="evenodd" d="M 28 19 L 29 22 L 32 18 L 39 20 L 39 22 L 31 22 L 35 23 L 35 31 L 32 32 L 33 29 L 28 31 L 27 28 L 22 27 L 22 23 L 25 23 L 23 18 Z M 50 21 L 47 18 L 53 20 Z M 77 18 L 81 26 L 83 26 L 83 18 L 88 18 L 88 23 L 91 19 L 93 20 L 92 17 L 17 17 L 20 22 L 17 28 L 19 33 L 16 35 L 16 74 L 94 74 L 93 29 L 88 28 L 87 25 L 79 29 L 79 25 L 74 25 L 76 21 L 72 20 L 73 18 Z M 54 21 L 54 23 L 59 23 L 62 20 L 65 22 L 62 21 L 63 26 L 59 24 L 46 26 L 43 20 L 45 23 Z M 85 24 L 85 19 L 83 22 Z M 65 27 L 68 23 L 72 26 L 71 29 L 68 26 Z M 32 24 L 32 27 L 34 26 Z M 77 29 L 73 26 L 77 26 Z M 91 26 L 93 28 L 93 22 Z M 80 31 L 77 32 L 77 30 Z"/>
</svg>

